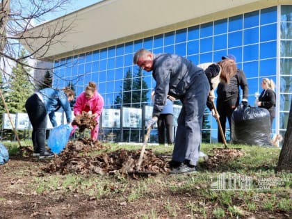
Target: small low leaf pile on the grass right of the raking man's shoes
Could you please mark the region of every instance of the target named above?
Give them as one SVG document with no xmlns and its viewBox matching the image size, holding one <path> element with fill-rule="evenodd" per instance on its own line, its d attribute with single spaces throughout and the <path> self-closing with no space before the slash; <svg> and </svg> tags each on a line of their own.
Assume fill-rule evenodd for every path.
<svg viewBox="0 0 292 219">
<path fill-rule="evenodd" d="M 223 163 L 228 163 L 244 155 L 240 148 L 214 148 L 212 154 L 206 160 L 206 165 L 209 169 L 216 168 Z"/>
</svg>

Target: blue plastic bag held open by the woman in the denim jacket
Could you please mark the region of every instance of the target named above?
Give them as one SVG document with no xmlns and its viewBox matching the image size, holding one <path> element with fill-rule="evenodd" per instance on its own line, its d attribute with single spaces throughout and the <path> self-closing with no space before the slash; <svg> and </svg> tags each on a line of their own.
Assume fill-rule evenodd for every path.
<svg viewBox="0 0 292 219">
<path fill-rule="evenodd" d="M 51 148 L 51 152 L 59 154 L 67 145 L 72 126 L 68 124 L 61 124 L 54 129 L 51 129 L 49 133 L 48 146 Z"/>
</svg>

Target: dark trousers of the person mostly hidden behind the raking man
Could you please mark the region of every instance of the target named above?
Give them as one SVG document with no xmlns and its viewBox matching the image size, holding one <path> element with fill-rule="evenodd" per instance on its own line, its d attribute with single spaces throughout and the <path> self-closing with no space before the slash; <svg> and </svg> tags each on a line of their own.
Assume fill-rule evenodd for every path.
<svg viewBox="0 0 292 219">
<path fill-rule="evenodd" d="M 172 144 L 172 114 L 161 114 L 157 121 L 158 133 L 159 133 L 159 144 L 165 143 L 165 129 L 166 129 L 166 140 L 168 144 Z"/>
</svg>

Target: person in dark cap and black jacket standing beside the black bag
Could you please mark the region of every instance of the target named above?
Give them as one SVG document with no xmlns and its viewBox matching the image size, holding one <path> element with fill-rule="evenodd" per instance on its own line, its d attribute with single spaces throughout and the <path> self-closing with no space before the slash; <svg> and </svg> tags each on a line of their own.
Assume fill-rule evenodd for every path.
<svg viewBox="0 0 292 219">
<path fill-rule="evenodd" d="M 236 58 L 232 54 L 229 54 L 228 56 L 222 56 L 222 60 L 226 59 L 232 59 L 236 63 Z M 242 70 L 237 69 L 236 74 L 230 79 L 229 83 L 218 84 L 216 107 L 224 134 L 226 131 L 226 118 L 228 120 L 229 127 L 231 130 L 232 113 L 240 102 L 239 87 L 241 87 L 241 90 L 243 91 L 243 99 L 241 102 L 245 106 L 248 106 L 248 82 Z M 219 127 L 218 127 L 218 143 L 223 143 Z"/>
</svg>

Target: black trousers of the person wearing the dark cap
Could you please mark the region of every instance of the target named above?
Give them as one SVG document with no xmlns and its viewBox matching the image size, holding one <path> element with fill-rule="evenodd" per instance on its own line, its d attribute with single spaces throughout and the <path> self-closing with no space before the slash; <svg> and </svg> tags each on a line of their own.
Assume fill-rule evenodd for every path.
<svg viewBox="0 0 292 219">
<path fill-rule="evenodd" d="M 218 114 L 220 115 L 219 121 L 225 136 L 225 132 L 226 132 L 226 118 L 228 120 L 229 123 L 229 127 L 230 127 L 230 138 L 231 138 L 231 125 L 232 125 L 232 121 L 231 121 L 231 117 L 232 117 L 232 113 L 235 110 L 236 106 L 238 106 L 239 104 L 239 99 L 230 99 L 228 101 L 222 101 L 220 99 L 217 99 L 217 111 Z M 218 126 L 218 133 L 217 133 L 217 138 L 218 138 L 218 143 L 223 143 L 221 134 L 220 134 L 220 130 L 219 130 L 219 126 Z M 226 138 L 226 136 L 225 136 Z"/>
</svg>

